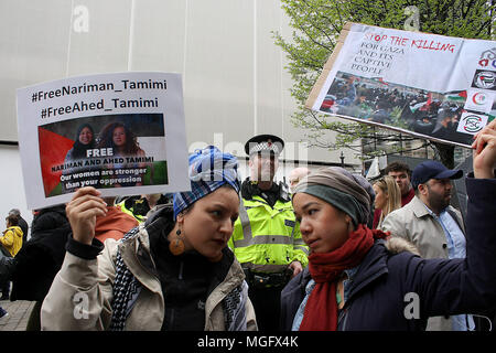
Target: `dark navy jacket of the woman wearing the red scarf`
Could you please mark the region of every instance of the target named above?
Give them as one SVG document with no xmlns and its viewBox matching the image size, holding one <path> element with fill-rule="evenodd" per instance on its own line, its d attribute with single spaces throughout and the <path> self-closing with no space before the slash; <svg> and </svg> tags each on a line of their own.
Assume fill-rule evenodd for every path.
<svg viewBox="0 0 496 353">
<path fill-rule="evenodd" d="M 466 186 L 466 258 L 422 259 L 409 252 L 393 254 L 384 240 L 376 242 L 351 285 L 348 299 L 339 312 L 338 330 L 424 330 L 429 317 L 484 314 L 494 309 L 496 228 L 489 220 L 494 216 L 496 180 L 467 178 Z M 283 330 L 291 330 L 309 280 L 305 270 L 283 289 Z"/>
</svg>

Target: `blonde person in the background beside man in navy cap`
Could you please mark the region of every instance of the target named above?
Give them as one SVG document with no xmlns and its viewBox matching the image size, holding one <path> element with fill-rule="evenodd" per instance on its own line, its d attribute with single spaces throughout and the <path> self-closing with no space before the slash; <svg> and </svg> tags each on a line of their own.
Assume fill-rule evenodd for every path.
<svg viewBox="0 0 496 353">
<path fill-rule="evenodd" d="M 390 212 L 401 208 L 401 191 L 395 179 L 388 175 L 375 181 L 373 188 L 376 193 L 375 208 L 380 210 L 380 218 L 376 228 L 380 228 L 384 217 Z"/>
</svg>

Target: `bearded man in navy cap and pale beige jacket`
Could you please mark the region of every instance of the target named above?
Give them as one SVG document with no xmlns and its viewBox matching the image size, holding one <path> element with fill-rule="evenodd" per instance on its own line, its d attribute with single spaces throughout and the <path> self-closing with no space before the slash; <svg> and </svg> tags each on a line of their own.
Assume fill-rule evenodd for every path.
<svg viewBox="0 0 496 353">
<path fill-rule="evenodd" d="M 382 231 L 413 243 L 423 258 L 464 258 L 465 227 L 461 213 L 450 205 L 452 179 L 462 170 L 450 170 L 438 161 L 416 167 L 411 184 L 416 196 L 406 206 L 388 214 Z M 467 331 L 474 329 L 472 315 L 429 319 L 428 331 Z"/>
</svg>

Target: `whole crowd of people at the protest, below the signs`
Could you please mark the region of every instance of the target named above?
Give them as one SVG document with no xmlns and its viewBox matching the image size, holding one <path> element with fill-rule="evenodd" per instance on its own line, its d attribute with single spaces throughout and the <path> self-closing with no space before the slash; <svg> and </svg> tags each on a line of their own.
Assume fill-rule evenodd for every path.
<svg viewBox="0 0 496 353">
<path fill-rule="evenodd" d="M 80 130 L 83 130 L 83 127 Z M 488 331 L 496 314 L 496 121 L 473 171 L 339 167 L 276 182 L 284 141 L 246 142 L 250 175 L 214 146 L 191 191 L 18 210 L 0 237 L 2 299 L 35 301 L 28 330 Z M 465 178 L 467 213 L 450 205 Z M 12 289 L 10 289 L 12 284 Z M 0 320 L 8 313 L 0 308 Z"/>
</svg>

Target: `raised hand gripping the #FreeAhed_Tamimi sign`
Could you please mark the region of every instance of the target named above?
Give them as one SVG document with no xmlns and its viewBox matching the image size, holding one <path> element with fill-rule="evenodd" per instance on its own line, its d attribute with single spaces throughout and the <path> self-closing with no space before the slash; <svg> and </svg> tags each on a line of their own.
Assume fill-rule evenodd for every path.
<svg viewBox="0 0 496 353">
<path fill-rule="evenodd" d="M 73 238 L 79 243 L 91 245 L 96 218 L 107 214 L 107 204 L 99 197 L 100 194 L 95 188 L 82 188 L 65 208 L 73 228 Z"/>
</svg>

